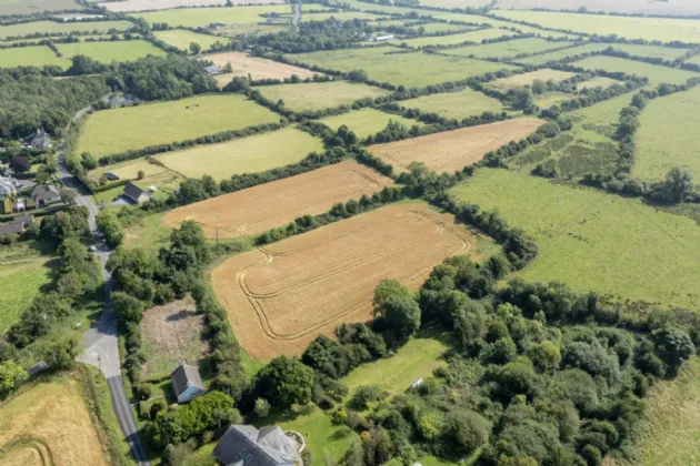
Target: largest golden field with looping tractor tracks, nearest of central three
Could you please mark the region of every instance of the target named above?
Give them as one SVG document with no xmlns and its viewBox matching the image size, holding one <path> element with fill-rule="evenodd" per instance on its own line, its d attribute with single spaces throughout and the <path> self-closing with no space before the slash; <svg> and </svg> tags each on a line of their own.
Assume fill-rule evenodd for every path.
<svg viewBox="0 0 700 466">
<path fill-rule="evenodd" d="M 478 234 L 421 203 L 391 205 L 229 259 L 211 275 L 241 346 L 261 361 L 300 354 L 319 334 L 371 316 L 374 287 L 417 290 Z"/>
</svg>

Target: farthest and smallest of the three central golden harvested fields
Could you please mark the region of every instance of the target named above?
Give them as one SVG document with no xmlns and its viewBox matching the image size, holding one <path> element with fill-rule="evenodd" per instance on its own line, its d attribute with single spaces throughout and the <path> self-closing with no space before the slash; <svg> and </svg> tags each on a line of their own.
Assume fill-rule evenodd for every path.
<svg viewBox="0 0 700 466">
<path fill-rule="evenodd" d="M 519 141 L 544 121 L 516 119 L 498 123 L 429 134 L 421 138 L 371 145 L 370 152 L 397 168 L 408 169 L 411 162 L 423 162 L 437 172 L 462 170 L 483 159 L 510 141 Z"/>
</svg>

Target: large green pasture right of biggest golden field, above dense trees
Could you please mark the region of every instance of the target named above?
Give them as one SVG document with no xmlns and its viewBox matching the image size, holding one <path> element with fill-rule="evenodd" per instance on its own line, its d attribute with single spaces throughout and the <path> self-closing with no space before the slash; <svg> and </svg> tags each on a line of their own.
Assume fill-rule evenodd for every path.
<svg viewBox="0 0 700 466">
<path fill-rule="evenodd" d="M 690 219 L 637 199 L 507 170 L 479 170 L 452 192 L 482 209 L 498 209 L 534 239 L 540 253 L 518 273 L 526 280 L 698 308 L 700 229 Z"/>
</svg>

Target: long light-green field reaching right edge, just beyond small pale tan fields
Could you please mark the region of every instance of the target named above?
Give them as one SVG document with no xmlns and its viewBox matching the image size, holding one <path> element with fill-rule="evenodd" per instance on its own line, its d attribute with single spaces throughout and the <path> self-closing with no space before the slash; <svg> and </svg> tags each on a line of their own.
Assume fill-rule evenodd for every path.
<svg viewBox="0 0 700 466">
<path fill-rule="evenodd" d="M 604 70 L 608 72 L 623 72 L 646 77 L 649 78 L 649 84 L 654 87 L 661 83 L 683 84 L 690 78 L 700 78 L 700 73 L 693 73 L 691 71 L 607 55 L 589 57 L 583 60 L 574 61 L 571 65 L 589 70 Z"/>
</svg>

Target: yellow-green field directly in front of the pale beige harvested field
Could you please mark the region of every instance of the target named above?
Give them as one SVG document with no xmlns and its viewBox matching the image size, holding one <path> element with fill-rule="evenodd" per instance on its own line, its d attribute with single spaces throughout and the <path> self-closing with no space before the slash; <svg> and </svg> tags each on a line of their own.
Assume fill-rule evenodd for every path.
<svg viewBox="0 0 700 466">
<path fill-rule="evenodd" d="M 261 85 L 256 89 L 274 102 L 283 100 L 284 107 L 293 111 L 331 109 L 390 93 L 386 89 L 347 81 Z"/>
</svg>

